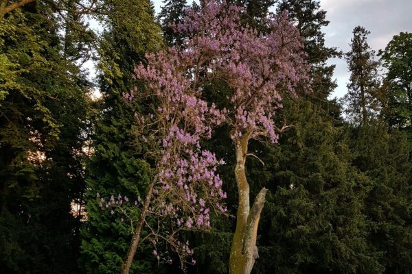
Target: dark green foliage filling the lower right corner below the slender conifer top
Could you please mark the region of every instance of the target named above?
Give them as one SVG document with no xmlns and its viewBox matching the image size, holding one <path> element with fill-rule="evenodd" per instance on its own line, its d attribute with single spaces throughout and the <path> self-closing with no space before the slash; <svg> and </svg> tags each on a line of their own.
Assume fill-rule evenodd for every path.
<svg viewBox="0 0 412 274">
<path fill-rule="evenodd" d="M 411 162 L 406 134 L 370 121 L 353 129 L 354 165 L 371 180 L 365 211 L 371 246 L 382 253 L 385 273 L 411 273 Z"/>
</svg>

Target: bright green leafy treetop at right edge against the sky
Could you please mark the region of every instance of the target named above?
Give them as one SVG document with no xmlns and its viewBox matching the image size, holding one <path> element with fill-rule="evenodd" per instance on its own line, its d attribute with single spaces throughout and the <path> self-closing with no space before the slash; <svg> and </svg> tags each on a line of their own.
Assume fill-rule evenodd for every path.
<svg viewBox="0 0 412 274">
<path fill-rule="evenodd" d="M 412 34 L 393 36 L 385 51 L 380 51 L 387 69 L 387 102 L 383 114 L 391 127 L 398 127 L 412 136 Z"/>
</svg>

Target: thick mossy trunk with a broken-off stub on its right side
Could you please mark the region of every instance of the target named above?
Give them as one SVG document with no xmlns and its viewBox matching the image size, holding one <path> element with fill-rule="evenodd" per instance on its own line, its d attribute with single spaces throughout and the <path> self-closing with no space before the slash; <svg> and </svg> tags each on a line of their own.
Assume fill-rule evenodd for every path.
<svg viewBox="0 0 412 274">
<path fill-rule="evenodd" d="M 256 236 L 267 189 L 263 188 L 260 190 L 252 208 L 250 208 L 249 184 L 244 169 L 248 142 L 249 135 L 247 134 L 236 140 L 235 176 L 238 185 L 239 202 L 236 216 L 236 231 L 232 240 L 229 260 L 230 274 L 251 273 L 255 259 L 259 257 L 258 248 L 256 247 Z"/>
</svg>

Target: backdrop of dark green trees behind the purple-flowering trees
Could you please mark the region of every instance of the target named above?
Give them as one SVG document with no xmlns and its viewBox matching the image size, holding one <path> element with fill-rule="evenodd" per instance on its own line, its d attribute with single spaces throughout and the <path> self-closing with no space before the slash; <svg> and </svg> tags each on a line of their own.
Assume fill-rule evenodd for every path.
<svg viewBox="0 0 412 274">
<path fill-rule="evenodd" d="M 269 8 L 288 10 L 312 79 L 312 92 L 284 98 L 277 119 L 293 127 L 279 144 L 251 144 L 264 162 L 247 162 L 251 192 L 269 189 L 253 273 L 412 273 L 412 34 L 394 36 L 376 55 L 367 29 L 355 27 L 342 53 L 325 47 L 321 27 L 329 22 L 319 1 L 229 2 L 262 33 Z M 165 1 L 155 17 L 148 0 L 2 3 L 0 273 L 119 273 L 131 235 L 100 210 L 96 194 L 146 191 L 145 148 L 135 145 L 133 127 L 144 106 L 126 103 L 124 92 L 141 84 L 132 73 L 145 53 L 183 45 L 169 24 L 181 22 L 189 4 Z M 89 18 L 103 31 L 93 32 Z M 336 57 L 351 73 L 340 101 L 330 99 L 336 82 L 327 61 Z M 82 65 L 91 58 L 93 80 Z M 229 136 L 222 128 L 205 146 L 226 162 L 219 172 L 236 215 Z M 187 273 L 228 273 L 235 220 L 211 216 L 211 227 L 182 236 L 196 259 Z M 144 242 L 130 273 L 181 273 L 161 248 L 171 264 Z"/>
</svg>

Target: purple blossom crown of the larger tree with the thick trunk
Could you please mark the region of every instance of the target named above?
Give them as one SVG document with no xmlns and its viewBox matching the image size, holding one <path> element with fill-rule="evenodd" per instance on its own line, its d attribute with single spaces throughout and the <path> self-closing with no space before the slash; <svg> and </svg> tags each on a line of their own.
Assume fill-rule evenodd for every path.
<svg viewBox="0 0 412 274">
<path fill-rule="evenodd" d="M 271 32 L 258 35 L 242 27 L 240 12 L 238 7 L 228 8 L 226 1 L 205 1 L 200 12 L 189 10 L 183 23 L 174 26 L 189 37 L 181 64 L 208 71 L 208 79 L 218 75 L 229 84 L 233 109 L 225 110 L 222 121 L 232 125 L 231 138 L 248 133 L 251 138 L 265 136 L 276 142 L 273 117 L 282 108 L 279 91 L 295 95 L 299 84 L 308 83 L 303 46 L 286 13 L 268 17 Z"/>
</svg>

